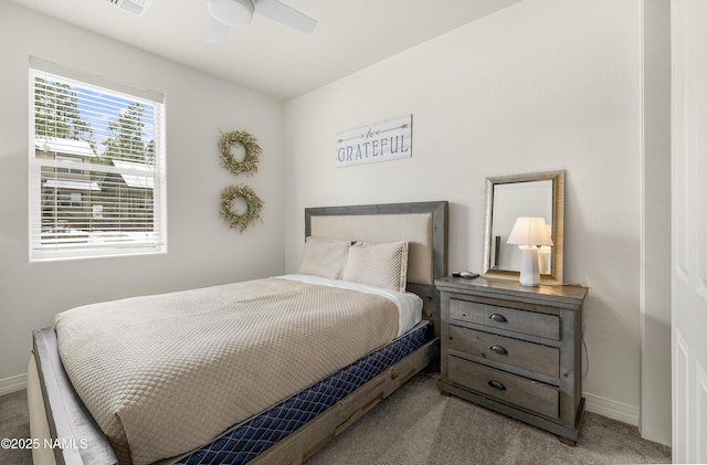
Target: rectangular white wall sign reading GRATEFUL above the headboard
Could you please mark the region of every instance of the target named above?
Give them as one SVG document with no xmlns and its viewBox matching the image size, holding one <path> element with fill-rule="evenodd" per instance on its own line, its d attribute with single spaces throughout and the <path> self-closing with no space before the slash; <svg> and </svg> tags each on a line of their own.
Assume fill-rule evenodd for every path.
<svg viewBox="0 0 707 465">
<path fill-rule="evenodd" d="M 412 115 L 373 123 L 336 135 L 336 166 L 412 157 Z"/>
</svg>

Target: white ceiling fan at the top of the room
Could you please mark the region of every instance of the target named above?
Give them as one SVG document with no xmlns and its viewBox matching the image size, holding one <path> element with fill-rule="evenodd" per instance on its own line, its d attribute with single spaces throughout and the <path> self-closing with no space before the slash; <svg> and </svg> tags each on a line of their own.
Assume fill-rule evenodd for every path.
<svg viewBox="0 0 707 465">
<path fill-rule="evenodd" d="M 232 25 L 245 25 L 258 13 L 312 34 L 317 22 L 279 0 L 207 0 L 211 23 L 207 42 L 222 43 Z"/>
</svg>

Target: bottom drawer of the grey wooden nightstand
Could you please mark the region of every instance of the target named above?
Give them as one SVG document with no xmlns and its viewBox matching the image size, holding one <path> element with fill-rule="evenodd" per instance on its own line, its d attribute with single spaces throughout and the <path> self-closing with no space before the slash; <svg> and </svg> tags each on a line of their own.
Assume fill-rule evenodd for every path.
<svg viewBox="0 0 707 465">
<path fill-rule="evenodd" d="M 551 419 L 560 416 L 557 388 L 456 357 L 449 358 L 449 366 L 450 381 L 460 387 Z"/>
</svg>

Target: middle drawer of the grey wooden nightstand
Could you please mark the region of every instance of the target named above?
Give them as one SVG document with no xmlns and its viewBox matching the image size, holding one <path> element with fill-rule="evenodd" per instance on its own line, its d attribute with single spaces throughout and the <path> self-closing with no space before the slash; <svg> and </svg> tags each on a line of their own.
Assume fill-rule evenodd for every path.
<svg viewBox="0 0 707 465">
<path fill-rule="evenodd" d="M 450 325 L 450 348 L 558 378 L 560 349 Z"/>
</svg>

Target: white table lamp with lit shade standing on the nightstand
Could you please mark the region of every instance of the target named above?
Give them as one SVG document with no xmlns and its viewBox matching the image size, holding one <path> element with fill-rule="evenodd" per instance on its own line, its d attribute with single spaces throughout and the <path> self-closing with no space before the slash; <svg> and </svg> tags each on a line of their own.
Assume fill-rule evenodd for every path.
<svg viewBox="0 0 707 465">
<path fill-rule="evenodd" d="M 518 216 L 506 242 L 518 245 L 523 253 L 520 257 L 520 284 L 523 286 L 539 286 L 538 251 L 542 246 L 555 245 L 545 219 L 539 216 Z"/>
</svg>

